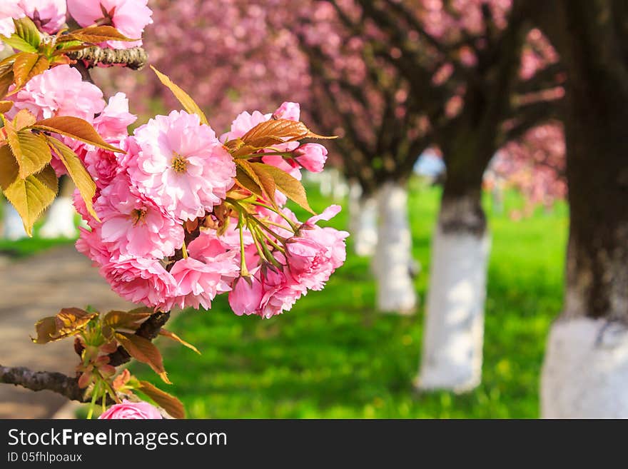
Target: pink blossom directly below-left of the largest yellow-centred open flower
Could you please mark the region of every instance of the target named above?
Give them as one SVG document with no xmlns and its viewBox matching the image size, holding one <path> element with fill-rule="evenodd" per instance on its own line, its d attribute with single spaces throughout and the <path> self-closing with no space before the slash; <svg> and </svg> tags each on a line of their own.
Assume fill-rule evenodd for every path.
<svg viewBox="0 0 628 469">
<path fill-rule="evenodd" d="M 183 226 L 118 176 L 103 188 L 94 209 L 104 243 L 122 255 L 163 258 L 183 244 Z"/>
</svg>

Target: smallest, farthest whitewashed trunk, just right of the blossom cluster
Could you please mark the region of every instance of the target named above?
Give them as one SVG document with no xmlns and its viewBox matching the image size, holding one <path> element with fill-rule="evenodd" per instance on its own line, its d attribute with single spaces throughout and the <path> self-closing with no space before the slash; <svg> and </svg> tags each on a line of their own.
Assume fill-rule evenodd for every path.
<svg viewBox="0 0 628 469">
<path fill-rule="evenodd" d="M 373 256 L 378 243 L 378 203 L 355 181 L 349 186 L 349 217 L 353 250 L 358 256 Z"/>
</svg>

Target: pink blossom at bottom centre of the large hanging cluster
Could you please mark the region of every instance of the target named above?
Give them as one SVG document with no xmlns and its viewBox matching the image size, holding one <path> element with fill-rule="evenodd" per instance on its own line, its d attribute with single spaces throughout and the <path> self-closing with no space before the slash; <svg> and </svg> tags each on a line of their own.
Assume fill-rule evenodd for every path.
<svg viewBox="0 0 628 469">
<path fill-rule="evenodd" d="M 176 297 L 168 301 L 164 309 L 171 309 L 173 304 L 181 308 L 211 308 L 213 298 L 230 291 L 231 282 L 240 273 L 235 254 L 234 251 L 223 253 L 207 263 L 191 257 L 177 261 L 170 271 L 177 284 Z"/>
</svg>

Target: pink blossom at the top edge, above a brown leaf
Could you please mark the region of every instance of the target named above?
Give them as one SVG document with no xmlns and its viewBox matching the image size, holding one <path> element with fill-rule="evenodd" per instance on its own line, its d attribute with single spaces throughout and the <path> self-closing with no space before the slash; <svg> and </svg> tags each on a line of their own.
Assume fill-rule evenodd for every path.
<svg viewBox="0 0 628 469">
<path fill-rule="evenodd" d="M 153 11 L 146 6 L 148 0 L 68 0 L 68 11 L 81 26 L 108 24 L 126 37 L 141 39 L 144 28 L 152 24 Z M 103 8 L 109 18 L 104 18 Z M 142 41 L 107 41 L 114 49 L 141 46 Z"/>
</svg>

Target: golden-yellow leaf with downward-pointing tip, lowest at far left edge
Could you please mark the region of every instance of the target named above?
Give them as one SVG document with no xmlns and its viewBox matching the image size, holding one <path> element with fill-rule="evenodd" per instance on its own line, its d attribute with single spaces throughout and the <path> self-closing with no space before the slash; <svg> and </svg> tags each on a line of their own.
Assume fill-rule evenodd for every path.
<svg viewBox="0 0 628 469">
<path fill-rule="evenodd" d="M 21 216 L 26 233 L 32 236 L 35 221 L 56 196 L 58 181 L 54 169 L 48 165 L 40 173 L 22 179 L 15 157 L 5 145 L 0 147 L 0 186 Z"/>
</svg>

